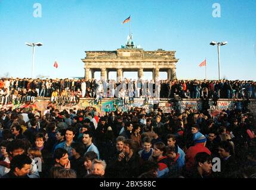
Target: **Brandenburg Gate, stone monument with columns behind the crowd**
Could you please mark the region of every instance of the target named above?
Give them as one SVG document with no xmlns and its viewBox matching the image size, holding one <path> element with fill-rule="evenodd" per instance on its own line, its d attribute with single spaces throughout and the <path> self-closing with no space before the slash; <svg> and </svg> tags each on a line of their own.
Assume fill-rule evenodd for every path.
<svg viewBox="0 0 256 190">
<path fill-rule="evenodd" d="M 116 71 L 116 81 L 123 80 L 124 71 L 137 71 L 138 78 L 143 79 L 144 71 L 153 72 L 153 80 L 159 79 L 159 72 L 167 72 L 168 80 L 176 78 L 175 51 L 158 49 L 145 51 L 127 43 L 121 49 L 114 51 L 85 51 L 84 62 L 85 79 L 94 78 L 94 72 L 101 72 L 101 80 L 108 80 L 109 72 Z"/>
</svg>

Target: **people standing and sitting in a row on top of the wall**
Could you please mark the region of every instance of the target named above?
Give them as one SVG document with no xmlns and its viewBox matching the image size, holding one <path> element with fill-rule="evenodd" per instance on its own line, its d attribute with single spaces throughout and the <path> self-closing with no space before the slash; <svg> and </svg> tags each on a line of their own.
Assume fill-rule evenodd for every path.
<svg viewBox="0 0 256 190">
<path fill-rule="evenodd" d="M 62 80 L 32 78 L 2 78 L 0 80 L 0 103 L 28 103 L 36 97 L 50 97 L 58 104 L 79 103 L 82 97 L 91 97 L 100 103 L 103 98 L 119 98 L 121 104 L 131 104 L 134 97 L 149 99 L 255 99 L 254 81 L 199 81 L 199 80 Z"/>
</svg>

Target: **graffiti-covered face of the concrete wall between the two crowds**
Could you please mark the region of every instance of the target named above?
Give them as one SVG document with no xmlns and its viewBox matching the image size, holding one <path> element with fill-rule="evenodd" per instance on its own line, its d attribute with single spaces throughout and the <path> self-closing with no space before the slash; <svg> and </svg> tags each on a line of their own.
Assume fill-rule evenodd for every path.
<svg viewBox="0 0 256 190">
<path fill-rule="evenodd" d="M 167 101 L 161 101 L 158 102 L 159 107 L 163 110 L 164 113 L 169 113 L 171 110 L 176 110 L 176 103 L 174 102 L 167 102 Z M 1 105 L 1 108 L 4 109 L 17 109 L 17 108 L 25 108 L 29 110 L 41 110 L 41 112 L 44 112 L 44 110 L 47 109 L 47 106 L 52 106 L 54 109 L 86 109 L 88 106 L 95 107 L 98 113 L 100 115 L 104 115 L 106 112 L 115 112 L 116 110 L 119 110 L 121 112 L 128 112 L 128 110 L 131 107 L 143 107 L 146 109 L 146 113 L 149 113 L 151 109 L 153 109 L 153 103 L 149 103 L 148 105 L 144 105 L 144 100 L 135 100 L 132 105 L 120 105 L 118 100 L 103 100 L 101 104 L 97 104 L 94 102 L 94 100 L 80 100 L 78 105 L 73 104 L 67 104 L 67 105 L 56 105 L 51 104 L 50 100 L 36 100 L 33 104 L 10 104 L 10 105 Z M 185 109 L 195 109 L 195 110 L 202 110 L 202 102 L 201 101 L 189 101 L 184 100 L 180 101 L 181 106 L 181 112 L 184 112 Z M 218 101 L 217 105 L 214 105 L 214 102 L 209 101 L 209 112 L 211 115 L 216 116 L 218 115 L 223 109 L 229 109 L 229 110 L 242 110 L 243 109 L 243 103 L 241 101 Z M 251 112 L 256 116 L 256 101 L 252 101 L 249 104 L 249 109 Z"/>
</svg>

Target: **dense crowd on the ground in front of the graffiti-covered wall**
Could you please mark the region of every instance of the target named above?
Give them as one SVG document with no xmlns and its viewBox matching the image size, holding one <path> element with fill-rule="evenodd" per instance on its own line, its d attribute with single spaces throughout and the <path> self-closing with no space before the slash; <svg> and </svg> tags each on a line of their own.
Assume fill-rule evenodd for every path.
<svg viewBox="0 0 256 190">
<path fill-rule="evenodd" d="M 1 109 L 0 178 L 255 178 L 255 127 L 239 109 Z"/>
</svg>

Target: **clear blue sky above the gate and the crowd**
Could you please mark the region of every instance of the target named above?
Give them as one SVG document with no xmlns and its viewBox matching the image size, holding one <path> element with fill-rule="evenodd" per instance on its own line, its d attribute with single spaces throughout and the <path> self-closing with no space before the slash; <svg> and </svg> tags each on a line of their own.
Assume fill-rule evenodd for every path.
<svg viewBox="0 0 256 190">
<path fill-rule="evenodd" d="M 35 3 L 42 5 L 41 18 L 33 17 Z M 220 18 L 212 17 L 214 3 L 221 6 Z M 228 42 L 220 47 L 222 78 L 256 80 L 255 0 L 0 0 L 0 76 L 30 77 L 32 48 L 24 43 L 42 42 L 35 77 L 83 77 L 85 50 L 124 45 L 129 24 L 121 23 L 129 15 L 136 45 L 176 50 L 178 79 L 204 78 L 205 68 L 198 65 L 205 58 L 208 78 L 218 78 L 217 46 L 209 45 L 215 40 Z"/>
</svg>

